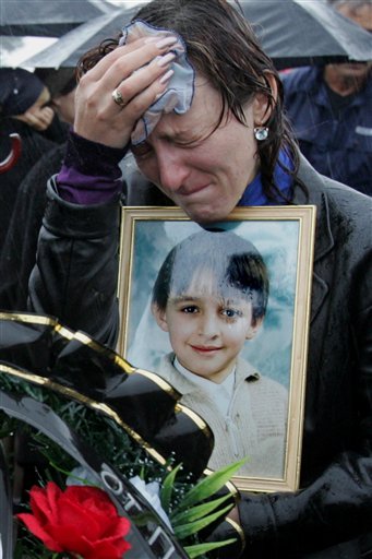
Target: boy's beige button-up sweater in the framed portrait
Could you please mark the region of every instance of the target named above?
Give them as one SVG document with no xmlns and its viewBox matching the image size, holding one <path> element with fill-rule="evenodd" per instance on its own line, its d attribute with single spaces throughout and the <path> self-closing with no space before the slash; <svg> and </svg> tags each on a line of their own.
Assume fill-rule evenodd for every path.
<svg viewBox="0 0 372 559">
<path fill-rule="evenodd" d="M 172 353 L 166 355 L 157 373 L 182 394 L 182 404 L 209 425 L 215 448 L 208 466 L 218 469 L 247 456 L 238 475 L 283 478 L 288 417 L 288 391 L 283 384 L 238 358 L 233 394 L 224 416 L 206 392 L 177 371 L 173 358 Z"/>
</svg>

